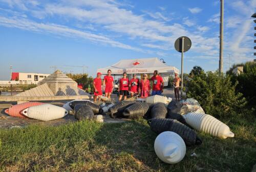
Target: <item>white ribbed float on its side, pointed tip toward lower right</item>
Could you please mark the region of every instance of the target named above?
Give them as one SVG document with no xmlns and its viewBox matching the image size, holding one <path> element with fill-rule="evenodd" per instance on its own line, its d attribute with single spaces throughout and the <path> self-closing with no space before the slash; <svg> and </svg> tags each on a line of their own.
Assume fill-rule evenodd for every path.
<svg viewBox="0 0 256 172">
<path fill-rule="evenodd" d="M 186 122 L 197 131 L 202 131 L 222 139 L 234 137 L 229 127 L 215 117 L 207 114 L 188 113 L 183 115 Z"/>
</svg>

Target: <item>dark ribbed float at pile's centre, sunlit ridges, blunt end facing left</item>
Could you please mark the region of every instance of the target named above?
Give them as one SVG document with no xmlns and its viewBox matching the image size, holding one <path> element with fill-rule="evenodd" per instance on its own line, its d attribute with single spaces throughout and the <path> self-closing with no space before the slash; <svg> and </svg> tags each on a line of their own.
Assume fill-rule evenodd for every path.
<svg viewBox="0 0 256 172">
<path fill-rule="evenodd" d="M 123 116 L 130 119 L 139 119 L 144 115 L 150 114 L 151 104 L 144 102 L 137 102 L 123 111 Z"/>
</svg>

